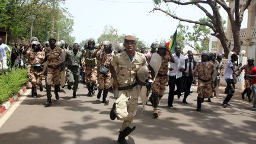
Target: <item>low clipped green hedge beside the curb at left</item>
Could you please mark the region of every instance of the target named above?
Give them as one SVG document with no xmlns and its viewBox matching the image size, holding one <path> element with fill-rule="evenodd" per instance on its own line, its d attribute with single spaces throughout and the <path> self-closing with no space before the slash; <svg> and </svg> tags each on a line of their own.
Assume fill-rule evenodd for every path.
<svg viewBox="0 0 256 144">
<path fill-rule="evenodd" d="M 25 69 L 18 69 L 16 72 L 0 75 L 0 104 L 17 94 L 26 82 L 28 82 L 28 78 Z"/>
</svg>

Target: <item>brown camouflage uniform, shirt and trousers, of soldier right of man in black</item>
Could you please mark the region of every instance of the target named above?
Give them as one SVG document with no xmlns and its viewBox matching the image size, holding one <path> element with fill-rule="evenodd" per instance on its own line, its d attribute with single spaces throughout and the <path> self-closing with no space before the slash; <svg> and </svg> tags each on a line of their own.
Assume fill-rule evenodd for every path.
<svg viewBox="0 0 256 144">
<path fill-rule="evenodd" d="M 212 74 L 214 71 L 213 63 L 206 62 L 205 66 L 203 62 L 197 63 L 194 68 L 194 73 L 197 73 L 199 81 L 197 87 L 197 93 L 199 98 L 210 98 L 213 92 L 213 80 Z"/>
</svg>

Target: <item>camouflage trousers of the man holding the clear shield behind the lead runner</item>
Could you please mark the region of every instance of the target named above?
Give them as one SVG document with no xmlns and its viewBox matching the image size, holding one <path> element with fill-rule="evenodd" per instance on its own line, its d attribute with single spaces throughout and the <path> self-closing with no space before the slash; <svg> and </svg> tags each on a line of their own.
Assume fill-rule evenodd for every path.
<svg viewBox="0 0 256 144">
<path fill-rule="evenodd" d="M 152 93 L 161 96 L 164 95 L 166 82 L 167 76 L 156 76 L 152 86 Z"/>
</svg>

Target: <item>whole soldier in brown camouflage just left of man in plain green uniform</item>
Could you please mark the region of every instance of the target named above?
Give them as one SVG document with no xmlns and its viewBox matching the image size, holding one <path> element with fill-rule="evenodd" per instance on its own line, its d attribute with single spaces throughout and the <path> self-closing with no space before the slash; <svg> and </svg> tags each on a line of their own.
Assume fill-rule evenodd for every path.
<svg viewBox="0 0 256 144">
<path fill-rule="evenodd" d="M 55 46 L 56 39 L 52 38 L 50 41 L 50 47 L 46 47 L 44 62 L 47 62 L 47 76 L 46 76 L 46 94 L 47 101 L 45 103 L 46 107 L 52 105 L 51 100 L 51 85 L 55 85 L 55 98 L 59 100 L 59 81 L 60 81 L 60 55 L 62 49 Z"/>
</svg>

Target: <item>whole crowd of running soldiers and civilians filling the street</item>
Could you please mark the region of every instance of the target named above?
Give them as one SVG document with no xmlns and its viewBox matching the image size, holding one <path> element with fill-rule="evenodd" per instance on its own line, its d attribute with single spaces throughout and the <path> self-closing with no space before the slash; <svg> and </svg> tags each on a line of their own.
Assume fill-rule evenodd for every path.
<svg viewBox="0 0 256 144">
<path fill-rule="evenodd" d="M 146 83 L 147 88 L 152 89 L 152 94 L 148 101 L 153 107 L 153 117 L 159 117 L 158 105 L 164 95 L 165 87 L 168 83 L 168 108 L 174 108 L 174 95 L 180 99 L 184 94 L 182 102 L 188 104 L 187 97 L 191 93 L 191 85 L 197 87 L 197 108 L 201 111 L 201 105 L 204 98 L 212 102 L 212 97 L 219 97 L 220 76 L 224 75 L 227 87 L 225 89 L 226 98 L 222 103 L 223 107 L 229 107 L 235 92 L 235 77 L 245 71 L 245 90 L 242 92 L 242 98 L 245 94 L 248 101 L 252 101 L 251 95 L 256 94 L 256 68 L 254 59 L 248 58 L 248 64 L 241 67 L 238 65 L 238 56 L 233 53 L 231 60 L 222 72 L 222 54 L 209 53 L 204 50 L 201 53 L 201 60 L 194 60 L 193 52 L 188 51 L 183 55 L 181 47 L 175 47 L 175 53 L 171 53 L 165 43 L 152 43 L 151 50 L 145 53 L 145 47 L 136 48 L 136 39 L 133 36 L 124 37 L 123 43 L 118 43 L 113 49 L 110 41 L 101 41 L 96 44 L 95 40 L 90 38 L 81 49 L 78 43 L 69 46 L 64 40 L 56 41 L 52 38 L 49 41 L 40 44 L 36 37 L 33 37 L 30 44 L 14 44 L 12 50 L 6 44 L 2 44 L 0 39 L 0 58 L 1 68 L 6 67 L 6 52 L 11 52 L 11 68 L 17 63 L 27 68 L 28 76 L 31 81 L 31 96 L 37 97 L 37 87 L 43 91 L 43 75 L 46 76 L 46 107 L 52 105 L 51 88 L 54 85 L 55 98 L 59 100 L 60 87 L 65 84 L 68 89 L 73 90 L 73 98 L 76 98 L 79 78 L 85 82 L 88 89 L 88 96 L 95 94 L 98 90 L 97 98 L 102 95 L 103 103 L 107 103 L 107 95 L 110 89 L 118 91 L 116 102 L 110 111 L 110 119 L 123 120 L 118 138 L 119 143 L 127 143 L 125 137 L 128 136 L 136 127 L 130 128 L 130 124 L 137 109 L 137 101 L 140 96 L 140 86 L 137 79 L 139 69 L 146 69 L 146 79 L 152 79 L 153 83 Z M 158 72 L 153 76 L 151 69 L 151 59 L 157 53 L 161 56 L 161 65 Z M 98 86 L 97 86 L 98 82 Z M 149 86 L 149 87 L 148 87 Z M 176 89 L 175 89 L 176 87 Z M 254 98 L 253 109 L 256 110 L 256 100 Z"/>
</svg>

